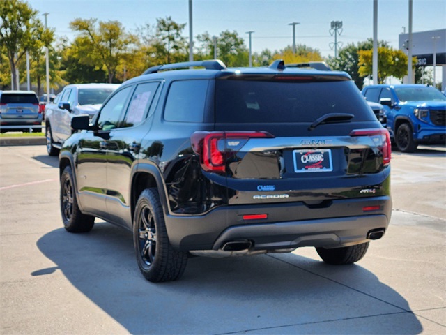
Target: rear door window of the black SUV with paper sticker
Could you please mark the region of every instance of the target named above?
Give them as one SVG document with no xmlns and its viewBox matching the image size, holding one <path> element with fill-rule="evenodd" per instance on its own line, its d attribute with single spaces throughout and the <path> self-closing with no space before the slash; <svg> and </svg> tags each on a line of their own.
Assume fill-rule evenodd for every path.
<svg viewBox="0 0 446 335">
<path fill-rule="evenodd" d="M 132 127 L 146 119 L 158 85 L 158 82 L 147 82 L 137 86 L 130 99 L 122 127 Z"/>
</svg>

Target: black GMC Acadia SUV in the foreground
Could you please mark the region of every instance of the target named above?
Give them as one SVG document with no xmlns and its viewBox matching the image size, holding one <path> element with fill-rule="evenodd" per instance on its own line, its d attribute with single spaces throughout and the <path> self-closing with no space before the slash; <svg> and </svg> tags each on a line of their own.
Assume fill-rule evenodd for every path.
<svg viewBox="0 0 446 335">
<path fill-rule="evenodd" d="M 149 281 L 180 278 L 190 254 L 314 246 L 349 264 L 390 221 L 389 133 L 346 73 L 155 66 L 72 128 L 59 161 L 66 230 L 95 217 L 132 230 Z"/>
</svg>

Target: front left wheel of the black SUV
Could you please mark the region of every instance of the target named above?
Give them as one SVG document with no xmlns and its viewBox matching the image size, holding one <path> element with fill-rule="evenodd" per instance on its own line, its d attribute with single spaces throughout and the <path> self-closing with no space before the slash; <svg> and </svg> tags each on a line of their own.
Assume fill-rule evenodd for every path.
<svg viewBox="0 0 446 335">
<path fill-rule="evenodd" d="M 77 205 L 75 184 L 72 170 L 67 166 L 61 175 L 61 214 L 63 226 L 68 232 L 89 232 L 95 223 L 95 217 L 82 214 Z"/>
</svg>

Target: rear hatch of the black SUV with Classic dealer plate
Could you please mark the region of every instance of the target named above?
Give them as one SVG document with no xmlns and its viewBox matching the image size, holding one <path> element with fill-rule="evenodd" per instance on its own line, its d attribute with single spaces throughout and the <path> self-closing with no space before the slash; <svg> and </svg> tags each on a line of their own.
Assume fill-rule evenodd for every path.
<svg viewBox="0 0 446 335">
<path fill-rule="evenodd" d="M 388 133 L 348 77 L 219 78 L 215 131 L 201 137 L 203 170 L 226 175 L 229 204 L 389 194 Z"/>
</svg>

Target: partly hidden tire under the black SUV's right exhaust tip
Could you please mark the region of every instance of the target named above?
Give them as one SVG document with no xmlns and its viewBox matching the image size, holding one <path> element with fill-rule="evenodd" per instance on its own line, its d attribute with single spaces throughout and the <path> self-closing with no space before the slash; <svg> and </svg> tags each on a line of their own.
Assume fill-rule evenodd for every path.
<svg viewBox="0 0 446 335">
<path fill-rule="evenodd" d="M 355 246 L 344 246 L 343 248 L 316 248 L 316 251 L 325 263 L 344 265 L 353 264 L 363 258 L 368 248 L 369 242 L 366 242 L 363 244 L 356 244 Z"/>
</svg>

